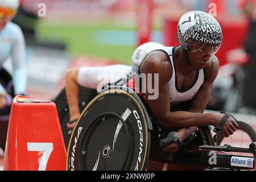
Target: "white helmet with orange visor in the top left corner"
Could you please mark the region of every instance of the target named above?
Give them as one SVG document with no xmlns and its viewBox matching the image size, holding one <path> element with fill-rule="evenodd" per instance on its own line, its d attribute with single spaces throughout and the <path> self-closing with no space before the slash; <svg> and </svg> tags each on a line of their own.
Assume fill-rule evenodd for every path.
<svg viewBox="0 0 256 182">
<path fill-rule="evenodd" d="M 19 7 L 19 0 L 0 0 L 0 18 L 14 16 Z"/>
</svg>

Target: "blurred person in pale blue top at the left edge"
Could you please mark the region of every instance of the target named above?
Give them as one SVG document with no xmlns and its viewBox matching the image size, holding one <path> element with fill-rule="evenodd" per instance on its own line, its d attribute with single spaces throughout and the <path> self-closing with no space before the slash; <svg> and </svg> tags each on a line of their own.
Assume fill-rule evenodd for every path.
<svg viewBox="0 0 256 182">
<path fill-rule="evenodd" d="M 0 111 L 10 107 L 12 97 L 26 93 L 24 36 L 20 27 L 11 22 L 18 7 L 19 0 L 0 0 Z M 2 67 L 9 56 L 13 63 L 12 77 Z"/>
</svg>

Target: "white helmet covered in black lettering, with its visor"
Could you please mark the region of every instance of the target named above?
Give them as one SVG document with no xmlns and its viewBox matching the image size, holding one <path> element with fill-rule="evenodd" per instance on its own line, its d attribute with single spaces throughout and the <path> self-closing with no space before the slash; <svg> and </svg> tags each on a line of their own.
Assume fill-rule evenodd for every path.
<svg viewBox="0 0 256 182">
<path fill-rule="evenodd" d="M 222 30 L 218 21 L 203 11 L 189 11 L 181 16 L 177 36 L 183 49 L 200 57 L 205 48 L 209 55 L 217 53 L 222 43 Z"/>
</svg>

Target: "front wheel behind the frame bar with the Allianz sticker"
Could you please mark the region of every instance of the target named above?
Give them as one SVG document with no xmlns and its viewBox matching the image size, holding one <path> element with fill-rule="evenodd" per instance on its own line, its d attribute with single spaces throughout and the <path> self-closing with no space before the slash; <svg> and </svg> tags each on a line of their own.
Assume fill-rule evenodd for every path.
<svg viewBox="0 0 256 182">
<path fill-rule="evenodd" d="M 256 142 L 256 133 L 253 127 L 242 121 L 237 121 L 237 123 L 238 129 L 233 135 L 230 135 L 229 137 L 225 137 L 224 134 L 218 135 L 216 139 L 218 145 L 223 146 L 224 144 L 230 144 L 233 147 L 248 148 L 251 142 Z M 234 154 L 251 155 L 237 152 L 234 152 Z"/>
</svg>

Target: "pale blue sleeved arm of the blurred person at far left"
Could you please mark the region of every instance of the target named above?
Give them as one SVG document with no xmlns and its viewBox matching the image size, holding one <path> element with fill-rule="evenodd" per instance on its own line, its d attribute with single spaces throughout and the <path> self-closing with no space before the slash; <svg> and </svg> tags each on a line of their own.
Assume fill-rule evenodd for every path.
<svg viewBox="0 0 256 182">
<path fill-rule="evenodd" d="M 15 42 L 11 51 L 13 60 L 13 83 L 15 94 L 26 93 L 27 85 L 27 64 L 26 64 L 26 45 L 22 30 L 18 25 L 15 25 Z"/>
</svg>

